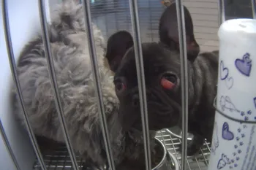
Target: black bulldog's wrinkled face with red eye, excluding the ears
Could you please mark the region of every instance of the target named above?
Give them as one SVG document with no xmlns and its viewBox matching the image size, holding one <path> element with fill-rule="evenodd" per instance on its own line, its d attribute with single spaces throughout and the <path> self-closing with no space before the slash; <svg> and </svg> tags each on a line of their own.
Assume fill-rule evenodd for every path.
<svg viewBox="0 0 256 170">
<path fill-rule="evenodd" d="M 148 104 L 148 123 L 151 130 L 176 125 L 179 119 L 179 63 L 178 55 L 159 43 L 145 43 L 144 73 Z M 173 57 L 170 57 L 173 55 Z M 120 118 L 124 129 L 141 128 L 138 76 L 135 51 L 131 47 L 124 55 L 114 79 L 120 100 Z"/>
</svg>

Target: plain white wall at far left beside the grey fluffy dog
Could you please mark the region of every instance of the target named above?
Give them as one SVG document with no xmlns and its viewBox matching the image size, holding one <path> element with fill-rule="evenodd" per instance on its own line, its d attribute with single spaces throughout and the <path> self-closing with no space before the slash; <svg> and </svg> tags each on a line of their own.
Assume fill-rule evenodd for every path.
<svg viewBox="0 0 256 170">
<path fill-rule="evenodd" d="M 52 4 L 52 0 L 50 0 Z M 40 31 L 40 21 L 37 0 L 8 0 L 10 31 L 15 58 L 18 58 L 20 50 L 32 36 Z M 45 1 L 48 11 L 48 1 Z M 0 4 L 1 7 L 1 4 Z M 7 138 L 10 141 L 20 168 L 32 169 L 34 163 L 34 150 L 31 147 L 26 131 L 18 125 L 11 112 L 10 85 L 12 75 L 4 39 L 3 16 L 0 9 L 0 119 L 4 125 Z M 49 12 L 48 12 L 49 17 Z M 0 137 L 0 169 L 15 170 L 12 160 Z"/>
</svg>

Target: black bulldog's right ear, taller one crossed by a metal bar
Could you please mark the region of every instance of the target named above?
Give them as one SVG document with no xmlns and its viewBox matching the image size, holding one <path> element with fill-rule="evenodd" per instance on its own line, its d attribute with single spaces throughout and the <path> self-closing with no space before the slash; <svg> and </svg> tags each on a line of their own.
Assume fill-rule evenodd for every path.
<svg viewBox="0 0 256 170">
<path fill-rule="evenodd" d="M 195 41 L 194 26 L 187 7 L 184 7 L 184 18 L 187 39 L 187 58 L 189 61 L 194 61 L 200 52 L 200 47 Z M 179 51 L 180 42 L 178 39 L 176 3 L 170 4 L 162 13 L 159 22 L 159 38 L 160 42 L 170 47 L 171 50 Z"/>
</svg>

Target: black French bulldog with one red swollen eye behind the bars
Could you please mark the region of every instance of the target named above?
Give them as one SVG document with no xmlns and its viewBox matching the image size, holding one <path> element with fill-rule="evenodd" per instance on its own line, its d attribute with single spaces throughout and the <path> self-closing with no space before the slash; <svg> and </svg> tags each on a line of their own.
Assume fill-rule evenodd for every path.
<svg viewBox="0 0 256 170">
<path fill-rule="evenodd" d="M 187 154 L 194 155 L 214 129 L 219 52 L 200 53 L 190 13 L 184 7 L 189 81 L 189 133 L 194 135 Z M 176 4 L 165 9 L 159 22 L 159 42 L 142 44 L 149 129 L 181 127 L 181 63 Z M 115 73 L 119 118 L 125 131 L 141 130 L 138 79 L 132 36 L 118 31 L 108 39 L 106 58 Z"/>
</svg>

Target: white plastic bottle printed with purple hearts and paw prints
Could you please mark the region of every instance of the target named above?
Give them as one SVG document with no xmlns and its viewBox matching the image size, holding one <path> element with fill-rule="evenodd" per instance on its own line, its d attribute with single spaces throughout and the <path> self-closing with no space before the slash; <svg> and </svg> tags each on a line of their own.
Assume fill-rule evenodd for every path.
<svg viewBox="0 0 256 170">
<path fill-rule="evenodd" d="M 224 115 L 215 115 L 208 170 L 255 170 L 256 20 L 227 20 L 218 35 L 216 104 Z"/>
</svg>

